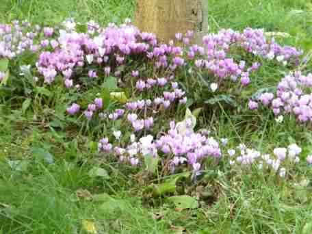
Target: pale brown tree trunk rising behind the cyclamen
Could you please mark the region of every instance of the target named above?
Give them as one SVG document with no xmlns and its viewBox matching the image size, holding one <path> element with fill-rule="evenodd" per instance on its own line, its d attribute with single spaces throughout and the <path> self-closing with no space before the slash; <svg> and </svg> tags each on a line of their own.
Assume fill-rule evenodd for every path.
<svg viewBox="0 0 312 234">
<path fill-rule="evenodd" d="M 208 0 L 137 0 L 135 25 L 153 32 L 162 42 L 178 32 L 194 31 L 194 42 L 201 44 L 208 31 Z"/>
</svg>

